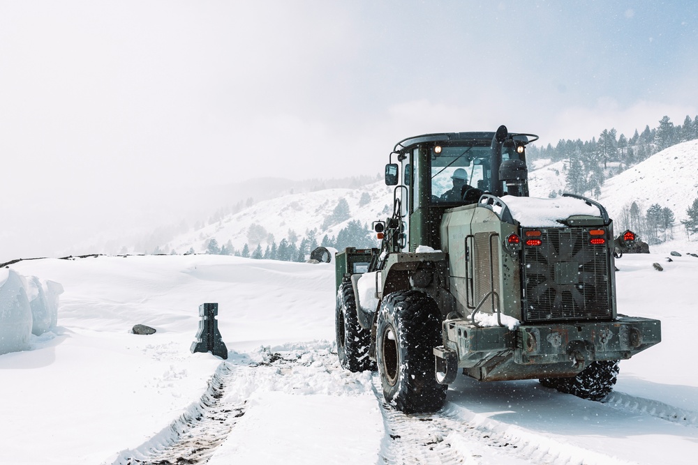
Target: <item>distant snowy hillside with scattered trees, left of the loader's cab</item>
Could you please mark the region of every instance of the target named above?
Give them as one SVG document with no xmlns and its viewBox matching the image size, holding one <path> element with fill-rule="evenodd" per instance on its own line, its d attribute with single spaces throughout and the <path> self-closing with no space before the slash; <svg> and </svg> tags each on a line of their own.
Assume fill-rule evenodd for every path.
<svg viewBox="0 0 698 465">
<path fill-rule="evenodd" d="M 315 236 L 320 242 L 325 234 L 336 236 L 350 220 L 359 220 L 369 226 L 375 220 L 385 220 L 392 213 L 392 192 L 393 188 L 386 186 L 384 181 L 377 181 L 358 189 L 318 190 L 260 201 L 215 224 L 178 236 L 163 250 L 165 253 L 174 250 L 182 254 L 192 247 L 195 252 L 205 252 L 211 238 L 215 238 L 220 245 L 230 241 L 236 250 L 242 249 L 244 244 L 248 244 L 250 250 L 260 244 L 263 250 L 271 245 L 269 233 L 279 243 L 288 237 L 289 230 L 302 238 L 307 231 L 315 229 Z M 332 214 L 341 199 L 347 201 L 350 218 L 322 229 L 325 218 Z M 250 227 L 253 225 L 263 229 L 255 226 L 251 234 Z M 267 234 L 260 234 L 260 230 Z"/>
</svg>

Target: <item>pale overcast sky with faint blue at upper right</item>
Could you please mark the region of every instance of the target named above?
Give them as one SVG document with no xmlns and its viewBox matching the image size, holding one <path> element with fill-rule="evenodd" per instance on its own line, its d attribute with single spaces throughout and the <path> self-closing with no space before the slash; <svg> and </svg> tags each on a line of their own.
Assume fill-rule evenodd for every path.
<svg viewBox="0 0 698 465">
<path fill-rule="evenodd" d="M 376 174 L 410 135 L 683 123 L 697 79 L 693 0 L 0 0 L 0 260 L 172 189 Z"/>
</svg>

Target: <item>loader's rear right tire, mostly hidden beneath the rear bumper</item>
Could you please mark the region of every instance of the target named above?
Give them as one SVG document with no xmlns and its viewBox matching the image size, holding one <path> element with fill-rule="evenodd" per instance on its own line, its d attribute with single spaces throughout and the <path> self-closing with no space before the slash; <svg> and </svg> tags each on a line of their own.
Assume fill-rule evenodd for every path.
<svg viewBox="0 0 698 465">
<path fill-rule="evenodd" d="M 541 378 L 538 381 L 546 388 L 599 401 L 613 391 L 619 371 L 618 360 L 598 360 L 572 378 Z"/>
</svg>

